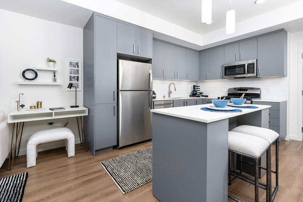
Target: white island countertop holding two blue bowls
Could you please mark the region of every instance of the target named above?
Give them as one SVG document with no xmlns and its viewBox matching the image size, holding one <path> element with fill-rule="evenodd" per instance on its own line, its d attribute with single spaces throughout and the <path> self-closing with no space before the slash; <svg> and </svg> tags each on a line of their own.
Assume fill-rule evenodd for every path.
<svg viewBox="0 0 303 202">
<path fill-rule="evenodd" d="M 165 114 L 169 116 L 175 116 L 179 118 L 190 119 L 194 121 L 200 121 L 204 123 L 210 123 L 214 121 L 219 121 L 226 118 L 231 118 L 235 116 L 239 116 L 242 114 L 247 114 L 254 111 L 259 111 L 262 109 L 270 108 L 271 105 L 260 105 L 260 104 L 251 104 L 253 106 L 258 107 L 257 109 L 241 109 L 242 112 L 235 113 L 226 113 L 226 112 L 211 112 L 211 111 L 203 111 L 202 107 L 206 107 L 213 104 L 200 104 L 200 105 L 192 105 L 185 107 L 174 107 L 174 108 L 164 108 L 164 109 L 152 109 L 151 112 L 158 114 Z M 235 108 L 238 109 L 238 108 Z"/>
</svg>

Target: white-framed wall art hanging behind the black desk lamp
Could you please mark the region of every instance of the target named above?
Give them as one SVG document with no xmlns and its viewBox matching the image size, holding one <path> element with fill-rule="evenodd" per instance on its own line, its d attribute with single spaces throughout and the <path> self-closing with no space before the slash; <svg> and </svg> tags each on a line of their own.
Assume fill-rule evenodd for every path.
<svg viewBox="0 0 303 202">
<path fill-rule="evenodd" d="M 76 86 L 77 91 L 81 91 L 82 84 L 81 84 L 81 75 L 82 75 L 82 68 L 81 68 L 81 60 L 67 60 L 67 84 L 72 83 Z M 71 88 L 68 91 L 75 91 L 75 88 Z"/>
</svg>

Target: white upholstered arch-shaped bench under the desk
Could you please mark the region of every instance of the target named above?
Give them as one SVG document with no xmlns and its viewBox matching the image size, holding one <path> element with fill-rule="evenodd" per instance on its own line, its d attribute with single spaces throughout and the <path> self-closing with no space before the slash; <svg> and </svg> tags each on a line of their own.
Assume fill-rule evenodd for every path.
<svg viewBox="0 0 303 202">
<path fill-rule="evenodd" d="M 75 156 L 75 136 L 69 128 L 54 128 L 32 134 L 26 147 L 26 167 L 33 167 L 36 165 L 38 144 L 64 139 L 66 140 L 68 157 Z"/>
</svg>

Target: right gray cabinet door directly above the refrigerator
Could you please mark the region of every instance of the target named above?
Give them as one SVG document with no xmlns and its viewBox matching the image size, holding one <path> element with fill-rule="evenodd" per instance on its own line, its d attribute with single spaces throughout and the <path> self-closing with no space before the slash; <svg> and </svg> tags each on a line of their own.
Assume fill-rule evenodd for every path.
<svg viewBox="0 0 303 202">
<path fill-rule="evenodd" d="M 136 28 L 137 56 L 152 58 L 152 32 Z"/>
</svg>

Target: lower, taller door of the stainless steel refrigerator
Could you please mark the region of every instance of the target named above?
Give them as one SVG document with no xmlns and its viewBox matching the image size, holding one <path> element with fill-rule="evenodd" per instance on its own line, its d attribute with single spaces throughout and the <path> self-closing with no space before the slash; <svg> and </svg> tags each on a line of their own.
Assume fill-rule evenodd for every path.
<svg viewBox="0 0 303 202">
<path fill-rule="evenodd" d="M 118 91 L 118 146 L 151 139 L 151 91 Z"/>
</svg>

